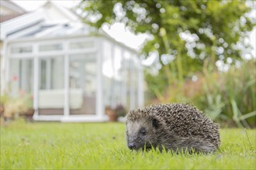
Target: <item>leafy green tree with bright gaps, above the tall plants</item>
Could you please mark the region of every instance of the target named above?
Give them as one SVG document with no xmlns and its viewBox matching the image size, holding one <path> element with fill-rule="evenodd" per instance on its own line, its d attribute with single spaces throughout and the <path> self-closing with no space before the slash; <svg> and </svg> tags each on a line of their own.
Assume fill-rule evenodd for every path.
<svg viewBox="0 0 256 170">
<path fill-rule="evenodd" d="M 105 22 L 123 22 L 134 33 L 154 37 L 142 53 L 159 54 L 158 76 L 147 73 L 146 79 L 150 90 L 161 93 L 175 80 L 202 71 L 206 59 L 213 67 L 219 59 L 232 58 L 233 63 L 242 59 L 250 48 L 244 43 L 246 32 L 255 26 L 255 19 L 246 15 L 251 6 L 246 1 L 94 0 L 79 7 L 85 22 L 96 28 Z"/>
</svg>

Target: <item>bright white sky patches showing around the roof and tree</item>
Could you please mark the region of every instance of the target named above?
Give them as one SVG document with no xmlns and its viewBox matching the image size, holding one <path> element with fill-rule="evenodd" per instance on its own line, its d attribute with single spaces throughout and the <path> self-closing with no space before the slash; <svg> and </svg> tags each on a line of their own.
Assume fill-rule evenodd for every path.
<svg viewBox="0 0 256 170">
<path fill-rule="evenodd" d="M 36 8 L 40 8 L 44 3 L 47 2 L 47 0 L 14 0 L 12 2 L 15 2 L 17 5 L 21 6 L 22 8 L 25 8 L 27 12 L 33 11 Z M 54 0 L 55 3 L 62 5 L 66 8 L 72 8 L 75 5 L 78 5 L 80 0 Z M 254 2 L 254 7 L 256 8 L 256 2 Z M 252 16 L 256 17 L 256 10 L 251 12 Z M 123 42 L 126 44 L 126 46 L 130 46 L 133 49 L 140 49 L 142 43 L 147 38 L 147 35 L 133 35 L 132 32 L 127 31 L 123 24 L 118 23 L 112 26 L 110 29 L 108 27 L 104 28 L 106 32 L 109 33 L 110 36 L 112 36 L 114 39 L 116 39 L 119 42 Z M 254 27 L 254 30 L 249 34 L 250 36 L 250 43 L 251 46 L 254 48 L 252 53 L 254 55 L 254 58 L 256 58 L 256 27 Z"/>
</svg>

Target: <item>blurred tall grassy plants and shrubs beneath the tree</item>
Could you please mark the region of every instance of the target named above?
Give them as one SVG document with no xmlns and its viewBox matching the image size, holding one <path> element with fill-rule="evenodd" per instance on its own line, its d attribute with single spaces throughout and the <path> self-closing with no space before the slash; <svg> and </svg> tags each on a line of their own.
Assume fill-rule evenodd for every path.
<svg viewBox="0 0 256 170">
<path fill-rule="evenodd" d="M 255 127 L 256 122 L 256 72 L 255 60 L 230 66 L 227 73 L 204 71 L 195 82 L 187 80 L 174 84 L 158 97 L 161 102 L 187 102 L 203 110 L 208 116 L 226 125 Z"/>
</svg>

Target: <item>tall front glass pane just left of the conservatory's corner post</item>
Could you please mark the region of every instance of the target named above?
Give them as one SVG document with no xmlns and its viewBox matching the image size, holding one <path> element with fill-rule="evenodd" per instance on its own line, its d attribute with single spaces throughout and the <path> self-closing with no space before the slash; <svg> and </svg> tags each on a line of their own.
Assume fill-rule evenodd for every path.
<svg viewBox="0 0 256 170">
<path fill-rule="evenodd" d="M 95 114 L 96 55 L 70 56 L 70 114 Z"/>
</svg>

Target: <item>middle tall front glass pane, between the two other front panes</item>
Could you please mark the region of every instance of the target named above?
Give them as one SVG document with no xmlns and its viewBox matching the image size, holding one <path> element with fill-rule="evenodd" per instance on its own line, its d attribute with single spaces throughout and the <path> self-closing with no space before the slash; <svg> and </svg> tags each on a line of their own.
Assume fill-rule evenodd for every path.
<svg viewBox="0 0 256 170">
<path fill-rule="evenodd" d="M 39 114 L 64 114 L 64 56 L 39 61 Z"/>
</svg>

